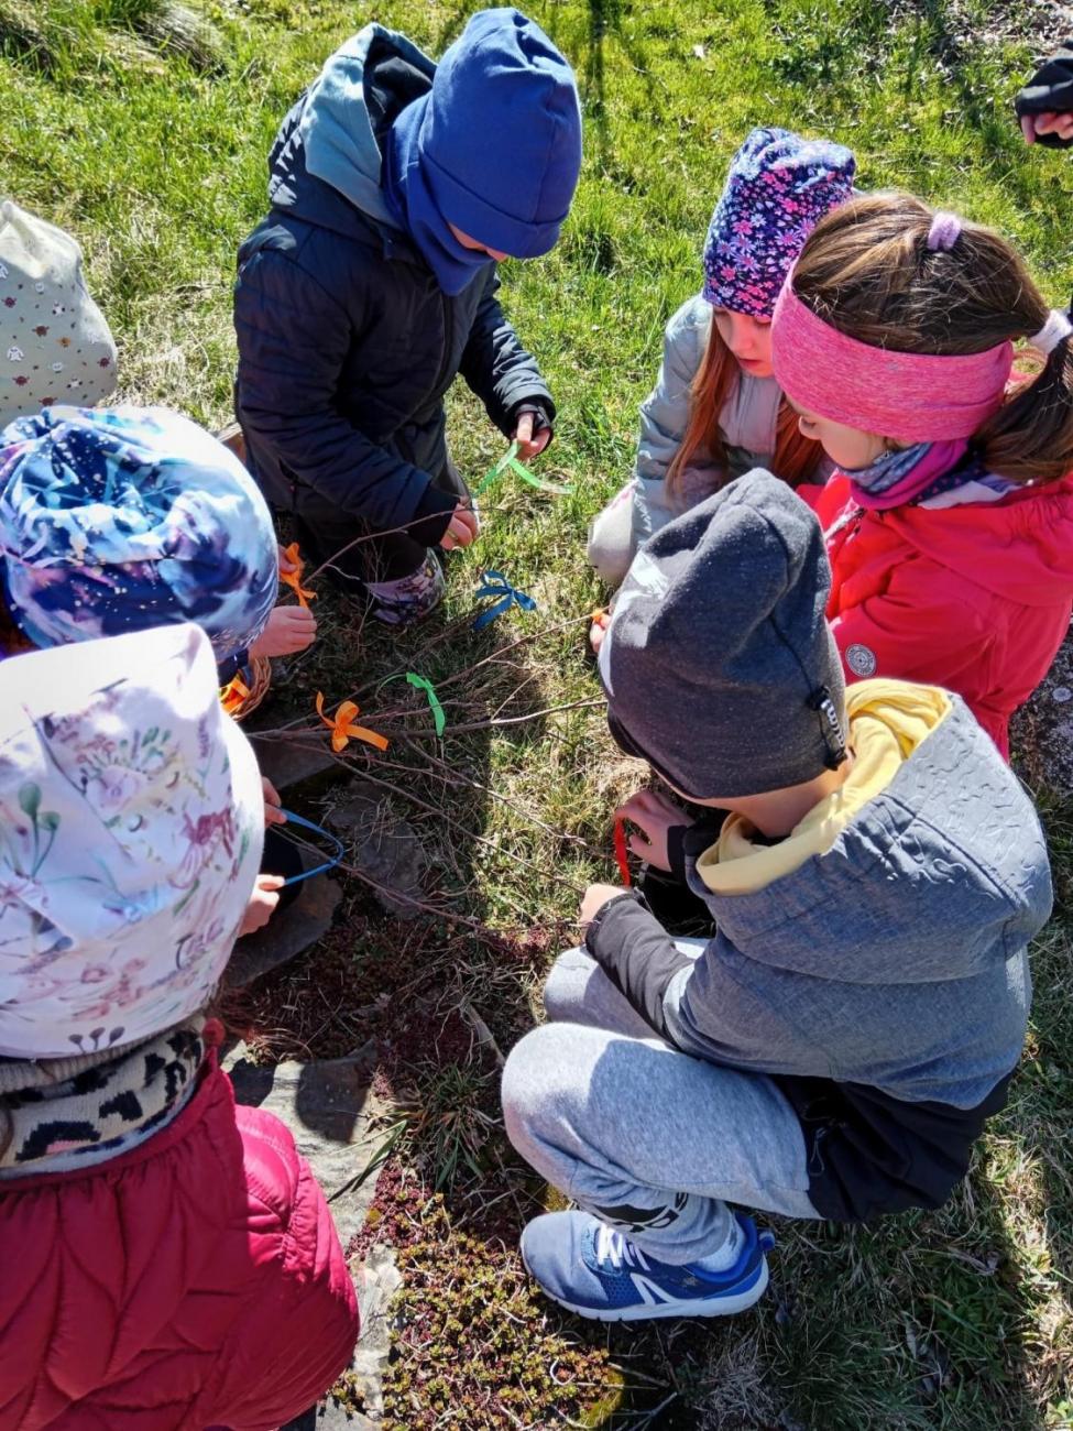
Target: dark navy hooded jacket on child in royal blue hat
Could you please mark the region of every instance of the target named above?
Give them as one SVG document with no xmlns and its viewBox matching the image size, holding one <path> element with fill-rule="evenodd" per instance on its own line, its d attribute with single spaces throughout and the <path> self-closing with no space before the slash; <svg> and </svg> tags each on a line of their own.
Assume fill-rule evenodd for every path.
<svg viewBox="0 0 1073 1431">
<path fill-rule="evenodd" d="M 303 488 L 429 545 L 456 498 L 444 395 L 462 373 L 509 436 L 521 405 L 554 416 L 534 358 L 496 299 L 488 262 L 455 298 L 438 286 L 381 190 L 383 139 L 432 83 L 405 36 L 366 26 L 290 110 L 269 156 L 272 209 L 239 250 L 236 411 L 262 491 Z"/>
</svg>

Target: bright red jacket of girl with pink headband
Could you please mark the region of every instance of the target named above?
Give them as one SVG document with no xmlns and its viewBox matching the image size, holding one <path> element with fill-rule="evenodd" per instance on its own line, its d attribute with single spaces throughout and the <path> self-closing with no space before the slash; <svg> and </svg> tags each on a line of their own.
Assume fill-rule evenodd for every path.
<svg viewBox="0 0 1073 1431">
<path fill-rule="evenodd" d="M 846 678 L 891 675 L 964 698 L 1003 756 L 1073 601 L 1073 475 L 1000 502 L 857 508 L 848 478 L 798 488 L 827 535 L 827 617 Z"/>
</svg>

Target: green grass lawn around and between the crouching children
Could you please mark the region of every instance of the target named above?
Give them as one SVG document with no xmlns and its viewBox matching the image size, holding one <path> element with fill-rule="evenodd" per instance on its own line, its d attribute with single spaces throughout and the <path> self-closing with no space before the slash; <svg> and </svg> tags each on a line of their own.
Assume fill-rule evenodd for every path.
<svg viewBox="0 0 1073 1431">
<path fill-rule="evenodd" d="M 386 0 L 376 19 L 439 52 L 471 9 Z M 1037 49 L 1053 37 L 1049 11 L 1006 9 L 531 6 L 581 77 L 587 162 L 562 243 L 509 266 L 506 302 L 561 405 L 544 469 L 577 491 L 557 501 L 496 488 L 479 548 L 452 562 L 442 617 L 399 647 L 319 584 L 322 638 L 292 663 L 265 718 L 312 726 L 316 690 L 329 708 L 358 694 L 393 744 L 346 761 L 382 781 L 385 817 L 412 823 L 429 909 L 386 917 L 348 877 L 318 953 L 235 1015 L 266 1058 L 381 1040 L 381 1079 L 406 1126 L 366 1241 L 406 1249 L 388 1384 L 399 1427 L 554 1427 L 562 1415 L 619 1431 L 1073 1425 L 1073 814 L 1060 803 L 1046 807 L 1060 904 L 1033 956 L 1024 1070 L 971 1178 L 930 1216 L 856 1232 L 780 1225 L 773 1291 L 754 1314 L 608 1334 L 531 1296 L 514 1246 L 547 1193 L 505 1143 L 495 1092 L 499 1055 L 529 1025 L 555 949 L 575 937 L 578 890 L 612 874 L 608 813 L 638 770 L 612 753 L 592 707 L 489 723 L 595 694 L 584 628 L 599 592 L 585 524 L 629 471 L 637 406 L 664 322 L 697 286 L 725 163 L 757 122 L 834 135 L 856 149 L 864 186 L 900 185 L 999 226 L 1064 301 L 1073 165 L 1026 150 L 1009 109 L 1033 26 Z M 325 56 L 372 13 L 235 0 L 192 19 L 159 0 L 0 0 L 4 187 L 82 239 L 119 338 L 122 396 L 227 419 L 235 249 L 263 210 L 269 142 Z M 502 449 L 461 392 L 451 432 L 472 475 Z M 475 635 L 485 565 L 536 595 L 539 611 Z M 406 668 L 438 684 L 451 727 L 481 727 L 448 730 L 444 767 L 429 758 L 419 694 L 376 691 Z M 338 798 L 325 781 L 308 810 Z M 459 914 L 471 923 L 452 923 Z M 459 1304 L 459 1329 L 452 1298 L 469 1295 L 466 1282 L 475 1298 Z"/>
</svg>

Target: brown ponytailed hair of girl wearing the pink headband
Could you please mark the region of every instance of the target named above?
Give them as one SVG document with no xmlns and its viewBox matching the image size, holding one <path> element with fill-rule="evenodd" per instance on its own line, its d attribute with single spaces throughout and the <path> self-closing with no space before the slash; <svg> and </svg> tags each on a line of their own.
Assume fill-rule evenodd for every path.
<svg viewBox="0 0 1073 1431">
<path fill-rule="evenodd" d="M 794 293 L 838 332 L 894 352 L 979 353 L 1037 333 L 1050 305 L 1020 255 L 967 220 L 950 249 L 931 250 L 934 216 L 908 193 L 850 199 L 808 236 Z M 1027 355 L 1034 372 L 1014 373 L 971 441 L 990 472 L 1050 482 L 1073 471 L 1073 342 Z"/>
</svg>

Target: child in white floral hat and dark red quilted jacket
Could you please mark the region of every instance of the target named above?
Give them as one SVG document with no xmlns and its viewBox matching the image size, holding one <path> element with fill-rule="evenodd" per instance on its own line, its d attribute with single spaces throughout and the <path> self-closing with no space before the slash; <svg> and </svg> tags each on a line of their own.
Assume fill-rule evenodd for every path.
<svg viewBox="0 0 1073 1431">
<path fill-rule="evenodd" d="M 33 651 L 0 703 L 0 1421 L 279 1427 L 348 1364 L 323 1193 L 206 1019 L 262 844 L 205 634 Z"/>
</svg>

